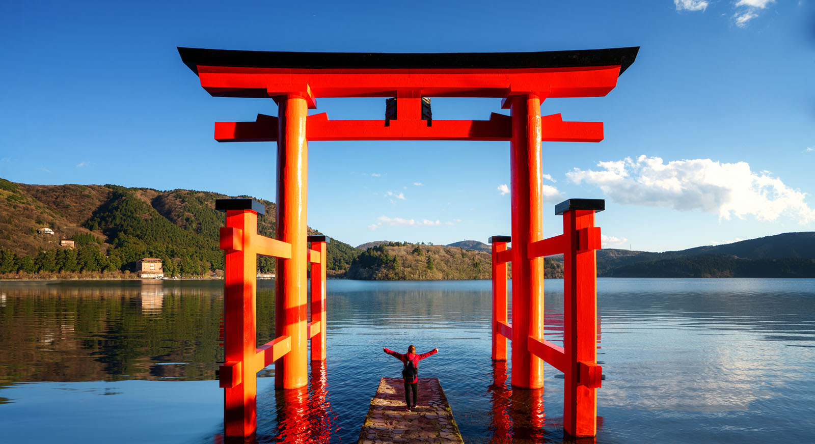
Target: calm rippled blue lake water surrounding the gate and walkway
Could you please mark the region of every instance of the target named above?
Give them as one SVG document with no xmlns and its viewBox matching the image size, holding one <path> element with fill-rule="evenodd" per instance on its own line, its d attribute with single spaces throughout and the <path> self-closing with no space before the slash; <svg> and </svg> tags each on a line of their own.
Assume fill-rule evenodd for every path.
<svg viewBox="0 0 815 444">
<path fill-rule="evenodd" d="M 562 281 L 545 285 L 560 343 Z M 273 292 L 259 282 L 259 344 Z M 598 279 L 597 293 L 597 442 L 815 439 L 815 279 Z M 222 301 L 222 282 L 0 282 L 0 441 L 222 442 Z M 356 442 L 379 378 L 401 371 L 382 347 L 414 344 L 438 347 L 420 376 L 441 381 L 465 442 L 563 442 L 562 375 L 547 365 L 543 390 L 513 389 L 490 317 L 489 281 L 329 280 L 327 363 L 307 393 L 258 374 L 257 441 Z"/>
</svg>

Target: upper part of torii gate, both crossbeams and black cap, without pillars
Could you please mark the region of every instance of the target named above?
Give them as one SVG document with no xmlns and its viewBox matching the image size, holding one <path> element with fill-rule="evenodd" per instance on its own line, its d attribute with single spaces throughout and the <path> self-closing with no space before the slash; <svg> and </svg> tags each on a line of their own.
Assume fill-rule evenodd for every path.
<svg viewBox="0 0 815 444">
<path fill-rule="evenodd" d="M 319 97 L 396 97 L 390 121 L 329 121 L 309 116 L 309 140 L 509 140 L 509 116 L 487 121 L 424 121 L 422 97 L 530 95 L 595 97 L 609 93 L 637 57 L 638 47 L 584 51 L 370 54 L 337 52 L 227 51 L 178 48 L 184 64 L 210 95 L 301 97 L 316 108 Z M 503 108 L 508 108 L 504 103 Z M 564 122 L 544 116 L 541 140 L 599 142 L 601 122 Z M 273 116 L 257 121 L 217 122 L 219 142 L 277 139 Z"/>
</svg>

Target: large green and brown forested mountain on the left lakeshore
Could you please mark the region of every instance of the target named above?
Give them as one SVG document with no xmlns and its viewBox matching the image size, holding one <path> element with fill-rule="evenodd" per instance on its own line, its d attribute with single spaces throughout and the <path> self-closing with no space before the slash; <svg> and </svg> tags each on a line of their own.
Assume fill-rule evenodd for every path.
<svg viewBox="0 0 815 444">
<path fill-rule="evenodd" d="M 158 191 L 116 185 L 26 185 L 0 179 L 0 274 L 126 272 L 143 257 L 161 258 L 165 275 L 208 275 L 223 268 L 215 200 L 191 190 Z M 246 196 L 239 196 L 246 197 Z M 275 204 L 258 218 L 258 233 L 273 236 Z M 39 233 L 50 228 L 54 234 Z M 309 228 L 309 234 L 319 234 Z M 63 248 L 59 240 L 74 240 Z M 328 269 L 346 270 L 355 248 L 328 244 Z M 275 260 L 258 259 L 272 272 Z"/>
</svg>

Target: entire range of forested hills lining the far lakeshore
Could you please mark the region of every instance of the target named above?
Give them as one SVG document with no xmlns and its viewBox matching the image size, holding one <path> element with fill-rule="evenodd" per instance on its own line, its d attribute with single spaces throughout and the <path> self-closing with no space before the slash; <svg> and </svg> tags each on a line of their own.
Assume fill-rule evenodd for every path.
<svg viewBox="0 0 815 444">
<path fill-rule="evenodd" d="M 116 185 L 26 185 L 0 179 L 0 275 L 88 275 L 134 271 L 143 257 L 161 258 L 165 275 L 211 275 L 223 268 L 214 209 L 218 193 L 158 191 Z M 238 196 L 245 197 L 245 196 Z M 258 218 L 274 236 L 275 204 Z M 48 228 L 54 234 L 39 233 Z M 309 228 L 309 234 L 319 234 Z M 59 240 L 74 240 L 63 248 Z M 489 279 L 489 245 L 378 240 L 353 248 L 328 244 L 328 275 L 351 279 Z M 562 257 L 546 260 L 546 276 L 562 276 Z M 258 259 L 273 272 L 275 260 Z M 815 232 L 784 233 L 681 251 L 597 251 L 601 277 L 815 277 Z"/>
</svg>

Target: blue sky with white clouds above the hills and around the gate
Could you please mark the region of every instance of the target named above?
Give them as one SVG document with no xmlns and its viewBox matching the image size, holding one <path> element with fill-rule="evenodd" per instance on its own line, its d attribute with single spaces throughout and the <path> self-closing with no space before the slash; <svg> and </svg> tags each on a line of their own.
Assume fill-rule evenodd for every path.
<svg viewBox="0 0 815 444">
<path fill-rule="evenodd" d="M 259 51 L 554 51 L 641 46 L 609 95 L 542 113 L 603 121 L 544 143 L 545 235 L 569 197 L 606 199 L 604 246 L 690 248 L 815 229 L 813 0 L 3 2 L 0 177 L 275 199 L 274 143 L 214 121 L 274 115 L 210 97 L 176 46 Z M 416 5 L 419 5 L 418 7 Z M 376 119 L 384 99 L 318 99 Z M 487 119 L 500 99 L 433 99 Z M 144 156 L 141 152 L 150 152 Z M 349 244 L 509 234 L 509 143 L 312 142 L 308 223 Z"/>
</svg>

